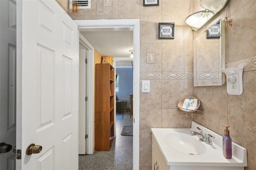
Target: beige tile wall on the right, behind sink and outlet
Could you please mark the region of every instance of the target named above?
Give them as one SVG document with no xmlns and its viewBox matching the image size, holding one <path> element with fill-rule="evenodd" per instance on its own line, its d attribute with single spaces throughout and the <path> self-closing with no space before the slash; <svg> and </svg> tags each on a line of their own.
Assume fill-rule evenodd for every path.
<svg viewBox="0 0 256 170">
<path fill-rule="evenodd" d="M 248 167 L 256 170 L 256 1 L 231 0 L 233 26 L 226 27 L 226 65 L 244 67 L 242 95 L 228 95 L 222 86 L 194 87 L 205 109 L 194 121 L 224 135 L 222 124 L 230 125 L 232 140 L 247 149 Z M 226 10 L 219 18 L 224 19 Z M 248 22 L 250 20 L 250 22 Z M 195 35 L 194 35 L 195 37 Z"/>
</svg>

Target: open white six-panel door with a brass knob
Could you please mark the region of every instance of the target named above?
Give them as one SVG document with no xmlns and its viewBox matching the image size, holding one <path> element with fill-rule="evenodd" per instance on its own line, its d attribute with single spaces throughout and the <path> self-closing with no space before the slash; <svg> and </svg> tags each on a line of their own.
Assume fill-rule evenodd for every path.
<svg viewBox="0 0 256 170">
<path fill-rule="evenodd" d="M 77 25 L 55 0 L 22 0 L 17 8 L 17 16 L 22 16 L 20 23 L 17 20 L 22 28 L 17 36 L 22 34 L 17 43 L 22 42 L 22 56 L 17 53 L 17 117 L 22 120 L 17 123 L 17 149 L 22 149 L 22 159 L 17 167 L 76 170 Z M 42 146 L 42 152 L 26 154 L 33 143 Z"/>
</svg>

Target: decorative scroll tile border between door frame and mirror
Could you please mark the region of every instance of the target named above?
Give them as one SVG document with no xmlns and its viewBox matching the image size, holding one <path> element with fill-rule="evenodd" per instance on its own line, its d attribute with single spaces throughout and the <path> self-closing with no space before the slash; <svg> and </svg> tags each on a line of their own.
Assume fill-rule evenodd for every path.
<svg viewBox="0 0 256 170">
<path fill-rule="evenodd" d="M 193 79 L 193 72 L 141 72 L 140 79 Z"/>
</svg>

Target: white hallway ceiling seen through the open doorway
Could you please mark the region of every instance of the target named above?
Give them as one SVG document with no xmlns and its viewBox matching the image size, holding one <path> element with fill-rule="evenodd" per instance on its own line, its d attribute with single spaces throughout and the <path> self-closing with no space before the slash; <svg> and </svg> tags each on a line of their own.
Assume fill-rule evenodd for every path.
<svg viewBox="0 0 256 170">
<path fill-rule="evenodd" d="M 130 57 L 133 49 L 132 30 L 96 29 L 80 31 L 102 56 Z"/>
</svg>

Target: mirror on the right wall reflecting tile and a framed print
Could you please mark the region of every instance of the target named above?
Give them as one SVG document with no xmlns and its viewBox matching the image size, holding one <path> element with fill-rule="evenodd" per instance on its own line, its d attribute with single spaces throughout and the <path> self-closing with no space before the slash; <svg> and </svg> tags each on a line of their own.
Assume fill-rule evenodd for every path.
<svg viewBox="0 0 256 170">
<path fill-rule="evenodd" d="M 217 86 L 225 83 L 225 22 L 219 20 L 206 31 L 201 30 L 193 40 L 194 86 Z"/>
</svg>

